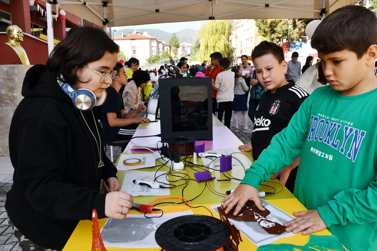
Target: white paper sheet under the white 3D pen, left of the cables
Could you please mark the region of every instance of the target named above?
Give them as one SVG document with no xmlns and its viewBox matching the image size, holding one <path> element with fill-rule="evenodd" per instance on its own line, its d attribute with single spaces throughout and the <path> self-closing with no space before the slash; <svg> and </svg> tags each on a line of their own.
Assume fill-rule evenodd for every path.
<svg viewBox="0 0 377 251">
<path fill-rule="evenodd" d="M 126 192 L 131 194 L 133 197 L 135 196 L 152 196 L 152 195 L 170 195 L 170 190 L 167 188 L 160 188 L 160 189 L 153 189 L 148 186 L 140 186 L 138 184 L 133 183 L 133 180 L 150 180 L 153 181 L 155 178 L 156 172 L 144 172 L 144 171 L 130 171 L 124 175 L 123 184 L 121 187 L 122 192 Z M 162 175 L 166 172 L 159 171 L 156 173 L 156 177 Z M 166 179 L 166 175 L 162 175 L 161 177 L 157 178 L 158 182 L 163 182 L 169 184 L 169 181 Z M 169 186 L 165 184 L 161 184 L 163 186 Z"/>
</svg>

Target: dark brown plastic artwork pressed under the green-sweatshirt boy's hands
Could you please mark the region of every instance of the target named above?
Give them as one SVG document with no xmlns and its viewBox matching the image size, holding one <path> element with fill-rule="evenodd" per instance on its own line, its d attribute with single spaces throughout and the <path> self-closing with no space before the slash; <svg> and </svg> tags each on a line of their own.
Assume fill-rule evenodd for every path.
<svg viewBox="0 0 377 251">
<path fill-rule="evenodd" d="M 218 207 L 219 212 L 220 212 L 221 207 Z M 233 215 L 235 209 L 236 209 L 236 206 L 234 206 L 229 211 L 229 213 L 227 214 L 228 218 L 234 219 L 236 221 L 258 222 L 259 225 L 269 234 L 282 234 L 285 232 L 285 227 L 283 225 L 280 225 L 277 222 L 273 222 L 266 219 L 268 214 L 270 214 L 269 210 L 267 209 L 265 211 L 259 210 L 253 201 L 247 201 L 244 207 L 241 208 L 237 216 Z"/>
</svg>

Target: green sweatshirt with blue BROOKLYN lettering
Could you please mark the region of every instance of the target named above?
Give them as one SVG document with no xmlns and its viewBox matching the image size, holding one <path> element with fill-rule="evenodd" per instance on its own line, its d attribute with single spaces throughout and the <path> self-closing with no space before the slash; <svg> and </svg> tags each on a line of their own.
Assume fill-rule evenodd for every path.
<svg viewBox="0 0 377 251">
<path fill-rule="evenodd" d="M 299 155 L 294 195 L 318 209 L 350 251 L 377 249 L 377 89 L 343 96 L 317 88 L 246 171 L 258 189 Z"/>
</svg>

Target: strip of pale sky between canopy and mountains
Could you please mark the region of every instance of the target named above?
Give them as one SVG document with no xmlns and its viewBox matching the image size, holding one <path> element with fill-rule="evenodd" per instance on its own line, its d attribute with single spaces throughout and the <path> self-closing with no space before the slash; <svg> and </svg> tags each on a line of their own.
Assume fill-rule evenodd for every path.
<svg viewBox="0 0 377 251">
<path fill-rule="evenodd" d="M 133 26 L 117 26 L 112 27 L 113 30 L 121 29 L 160 29 L 166 32 L 179 32 L 184 29 L 194 29 L 199 30 L 202 23 L 205 21 L 192 21 L 192 22 L 179 22 L 179 23 L 162 23 L 162 24 L 143 24 L 143 25 L 133 25 Z"/>
</svg>

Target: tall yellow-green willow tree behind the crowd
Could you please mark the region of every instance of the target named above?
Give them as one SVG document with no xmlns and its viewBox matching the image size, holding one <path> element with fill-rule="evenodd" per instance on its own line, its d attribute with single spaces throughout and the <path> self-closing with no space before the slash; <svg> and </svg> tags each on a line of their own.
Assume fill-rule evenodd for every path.
<svg viewBox="0 0 377 251">
<path fill-rule="evenodd" d="M 213 52 L 221 52 L 222 56 L 230 58 L 229 37 L 229 20 L 211 20 L 202 24 L 198 30 L 200 49 L 196 53 L 196 60 L 208 61 Z"/>
</svg>

